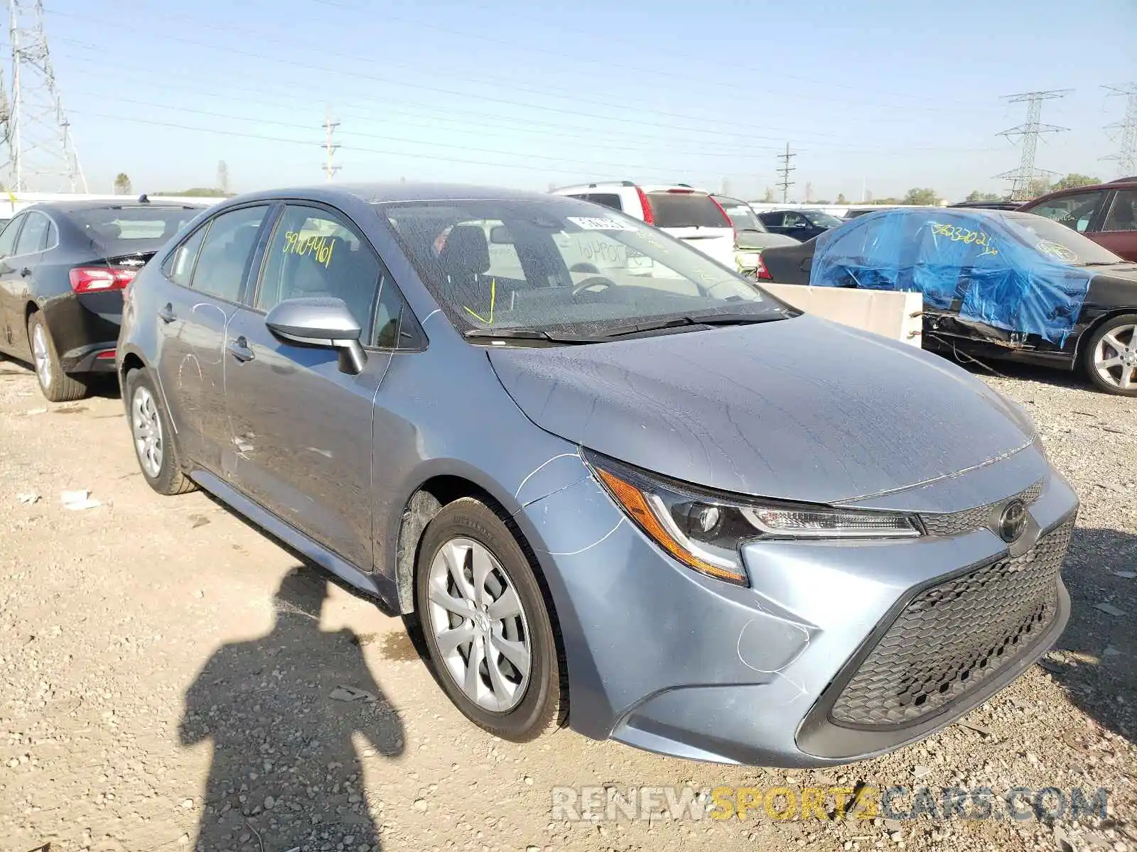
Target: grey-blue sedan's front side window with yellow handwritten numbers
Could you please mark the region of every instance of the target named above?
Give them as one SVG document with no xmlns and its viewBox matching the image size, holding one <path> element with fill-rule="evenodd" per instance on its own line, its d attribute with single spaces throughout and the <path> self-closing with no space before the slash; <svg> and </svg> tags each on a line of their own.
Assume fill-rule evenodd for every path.
<svg viewBox="0 0 1137 852">
<path fill-rule="evenodd" d="M 367 341 L 379 277 L 379 259 L 355 226 L 329 210 L 290 204 L 273 231 L 255 307 L 268 311 L 285 299 L 332 295 Z"/>
</svg>

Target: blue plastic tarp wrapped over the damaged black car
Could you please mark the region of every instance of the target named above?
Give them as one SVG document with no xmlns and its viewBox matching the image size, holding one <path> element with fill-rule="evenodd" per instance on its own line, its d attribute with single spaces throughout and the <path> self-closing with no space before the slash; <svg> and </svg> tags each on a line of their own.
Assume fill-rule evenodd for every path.
<svg viewBox="0 0 1137 852">
<path fill-rule="evenodd" d="M 1014 212 L 882 210 L 816 239 L 810 284 L 918 291 L 963 321 L 1062 345 L 1093 273 L 1052 227 Z"/>
</svg>

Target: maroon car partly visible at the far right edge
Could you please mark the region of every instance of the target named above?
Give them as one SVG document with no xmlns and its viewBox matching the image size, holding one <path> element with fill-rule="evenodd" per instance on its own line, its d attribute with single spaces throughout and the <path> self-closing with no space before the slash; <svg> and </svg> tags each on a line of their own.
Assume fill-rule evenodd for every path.
<svg viewBox="0 0 1137 852">
<path fill-rule="evenodd" d="M 1051 192 L 1019 211 L 1060 222 L 1114 254 L 1137 261 L 1137 175 Z"/>
</svg>

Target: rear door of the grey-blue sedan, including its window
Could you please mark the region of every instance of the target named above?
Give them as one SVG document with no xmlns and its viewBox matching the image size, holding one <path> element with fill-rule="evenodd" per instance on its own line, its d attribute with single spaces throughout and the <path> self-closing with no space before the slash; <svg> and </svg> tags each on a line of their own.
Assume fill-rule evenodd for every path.
<svg viewBox="0 0 1137 852">
<path fill-rule="evenodd" d="M 213 218 L 163 266 L 157 299 L 158 376 L 182 451 L 223 475 L 231 446 L 225 415 L 225 329 L 236 314 L 243 283 L 268 206 L 242 207 Z"/>
</svg>

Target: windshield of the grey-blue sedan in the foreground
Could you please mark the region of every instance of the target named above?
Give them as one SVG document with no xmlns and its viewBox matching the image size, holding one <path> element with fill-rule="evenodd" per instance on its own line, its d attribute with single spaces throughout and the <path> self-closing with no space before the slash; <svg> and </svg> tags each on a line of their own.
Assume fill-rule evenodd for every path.
<svg viewBox="0 0 1137 852">
<path fill-rule="evenodd" d="M 781 302 L 702 252 L 574 199 L 376 208 L 463 332 L 604 336 L 605 329 L 699 311 L 786 316 Z"/>
</svg>

